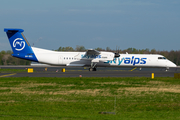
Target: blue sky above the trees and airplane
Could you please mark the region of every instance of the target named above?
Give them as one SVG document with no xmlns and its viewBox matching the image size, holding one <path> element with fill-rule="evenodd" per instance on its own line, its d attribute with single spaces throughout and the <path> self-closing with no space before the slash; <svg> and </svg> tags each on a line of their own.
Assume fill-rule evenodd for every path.
<svg viewBox="0 0 180 120">
<path fill-rule="evenodd" d="M 1 0 L 0 51 L 11 50 L 4 28 L 49 50 L 180 50 L 180 0 Z"/>
</svg>

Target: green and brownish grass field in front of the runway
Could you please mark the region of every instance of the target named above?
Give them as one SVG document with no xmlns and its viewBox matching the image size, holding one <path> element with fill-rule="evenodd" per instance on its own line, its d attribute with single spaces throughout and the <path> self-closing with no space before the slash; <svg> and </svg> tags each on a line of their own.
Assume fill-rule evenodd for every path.
<svg viewBox="0 0 180 120">
<path fill-rule="evenodd" d="M 0 78 L 1 120 L 176 120 L 179 113 L 174 78 Z"/>
</svg>

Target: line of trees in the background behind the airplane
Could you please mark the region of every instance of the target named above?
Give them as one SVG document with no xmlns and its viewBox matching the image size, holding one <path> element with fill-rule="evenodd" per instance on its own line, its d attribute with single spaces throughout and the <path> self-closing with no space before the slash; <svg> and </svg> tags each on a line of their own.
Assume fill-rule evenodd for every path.
<svg viewBox="0 0 180 120">
<path fill-rule="evenodd" d="M 84 46 L 77 45 L 76 48 L 72 47 L 59 47 L 55 51 L 86 51 L 87 49 Z M 180 50 L 171 50 L 171 51 L 159 51 L 155 49 L 136 49 L 136 48 L 128 48 L 125 50 L 113 50 L 109 47 L 106 47 L 106 49 L 103 48 L 95 48 L 95 50 L 98 51 L 108 51 L 108 52 L 117 52 L 117 53 L 128 53 L 128 54 L 160 54 L 165 56 L 167 59 L 174 62 L 176 65 L 180 65 Z M 13 54 L 12 51 L 1 51 L 0 52 L 0 65 L 30 65 L 31 61 L 23 60 L 19 58 L 12 57 L 11 54 Z"/>
</svg>

